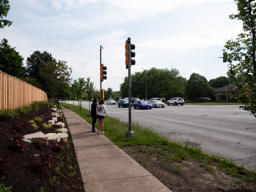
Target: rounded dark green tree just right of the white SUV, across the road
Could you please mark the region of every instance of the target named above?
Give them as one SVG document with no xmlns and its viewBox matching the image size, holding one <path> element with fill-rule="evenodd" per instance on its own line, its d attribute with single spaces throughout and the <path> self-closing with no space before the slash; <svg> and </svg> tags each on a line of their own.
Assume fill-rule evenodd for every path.
<svg viewBox="0 0 256 192">
<path fill-rule="evenodd" d="M 213 88 L 204 76 L 192 73 L 187 81 L 185 92 L 190 100 L 197 100 L 199 97 L 211 97 Z"/>
</svg>

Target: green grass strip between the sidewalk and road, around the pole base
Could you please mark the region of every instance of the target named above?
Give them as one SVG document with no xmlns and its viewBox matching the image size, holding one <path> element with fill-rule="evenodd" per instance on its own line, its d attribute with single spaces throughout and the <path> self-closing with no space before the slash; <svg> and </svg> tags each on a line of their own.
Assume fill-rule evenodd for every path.
<svg viewBox="0 0 256 192">
<path fill-rule="evenodd" d="M 72 104 L 62 103 L 62 105 L 71 109 L 89 123 L 92 123 L 87 109 L 83 108 L 83 110 L 80 110 L 78 106 Z M 248 171 L 244 167 L 237 166 L 235 163 L 225 159 L 220 159 L 218 156 L 205 154 L 199 147 L 183 146 L 181 143 L 171 142 L 165 135 L 160 135 L 151 128 L 142 126 L 139 123 L 132 123 L 132 130 L 135 132 L 135 136 L 126 138 L 125 134 L 128 131 L 128 123 L 106 115 L 104 130 L 106 130 L 106 137 L 120 148 L 125 146 L 152 146 L 150 149 L 141 147 L 139 150 L 140 152 L 155 154 L 157 159 L 171 163 L 173 161 L 182 163 L 185 159 L 197 161 L 201 167 L 204 167 L 212 174 L 215 174 L 215 170 L 212 167 L 216 166 L 219 171 L 223 171 L 233 177 L 243 178 L 245 182 L 256 182 L 255 171 Z M 140 161 L 145 164 L 143 159 L 140 159 Z"/>
</svg>

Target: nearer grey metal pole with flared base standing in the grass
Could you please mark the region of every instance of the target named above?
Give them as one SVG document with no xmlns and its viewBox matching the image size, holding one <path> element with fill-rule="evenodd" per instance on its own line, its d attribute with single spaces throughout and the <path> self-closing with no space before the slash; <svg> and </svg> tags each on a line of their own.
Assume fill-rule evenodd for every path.
<svg viewBox="0 0 256 192">
<path fill-rule="evenodd" d="M 126 132 L 127 137 L 134 137 L 135 133 L 132 131 L 132 106 L 131 103 L 131 78 L 130 78 L 130 67 L 131 67 L 131 56 L 130 56 L 130 38 L 128 37 L 128 103 L 129 103 L 129 130 Z"/>
</svg>

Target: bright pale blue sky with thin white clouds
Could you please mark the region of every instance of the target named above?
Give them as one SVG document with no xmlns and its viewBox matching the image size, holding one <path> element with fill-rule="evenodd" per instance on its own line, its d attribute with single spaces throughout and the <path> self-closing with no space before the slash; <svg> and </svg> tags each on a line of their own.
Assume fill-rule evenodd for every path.
<svg viewBox="0 0 256 192">
<path fill-rule="evenodd" d="M 131 73 L 178 69 L 187 79 L 199 73 L 208 81 L 227 76 L 223 63 L 225 42 L 242 33 L 242 21 L 233 0 L 9 0 L 0 30 L 26 59 L 47 51 L 72 68 L 71 78 L 90 77 L 100 90 L 100 45 L 107 80 L 102 88 L 120 90 L 124 77 L 125 42 L 135 44 Z"/>
</svg>

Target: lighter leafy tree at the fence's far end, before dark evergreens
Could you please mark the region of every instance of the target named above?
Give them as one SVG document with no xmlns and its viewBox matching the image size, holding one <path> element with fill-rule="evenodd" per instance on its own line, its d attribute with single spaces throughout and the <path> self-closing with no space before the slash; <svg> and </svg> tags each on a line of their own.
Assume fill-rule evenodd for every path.
<svg viewBox="0 0 256 192">
<path fill-rule="evenodd" d="M 72 69 L 64 61 L 47 62 L 39 75 L 44 82 L 44 91 L 49 97 L 65 97 L 71 81 Z"/>
</svg>

